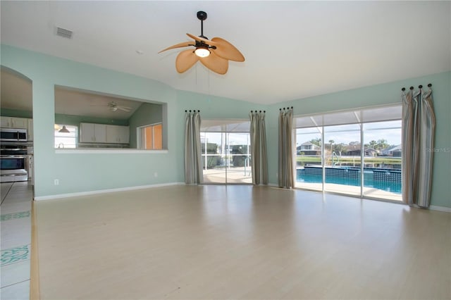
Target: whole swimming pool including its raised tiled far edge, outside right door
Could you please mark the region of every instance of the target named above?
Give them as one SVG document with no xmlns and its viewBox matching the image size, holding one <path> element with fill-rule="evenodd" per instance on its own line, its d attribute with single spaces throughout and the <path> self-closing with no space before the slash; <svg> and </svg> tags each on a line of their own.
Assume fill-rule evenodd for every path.
<svg viewBox="0 0 451 300">
<path fill-rule="evenodd" d="M 328 172 L 328 168 L 326 168 L 326 183 L 332 183 L 335 185 L 352 185 L 354 187 L 360 187 L 360 172 L 357 170 L 355 173 L 350 173 L 348 171 L 343 171 L 342 168 L 333 168 L 338 170 L 339 172 Z M 307 183 L 321 183 L 323 181 L 323 175 L 321 168 L 316 168 L 316 172 L 314 174 L 309 173 L 309 171 L 304 172 L 304 169 L 297 170 L 297 182 L 307 182 Z M 374 178 L 375 173 L 379 173 L 380 170 L 364 170 L 364 187 L 372 187 L 374 189 L 381 189 L 386 192 L 392 192 L 395 194 L 401 194 L 402 185 L 400 176 L 395 174 L 393 180 L 381 180 L 380 176 L 376 174 L 376 178 Z M 400 171 L 397 171 L 397 173 Z M 349 174 L 349 175 L 348 175 Z M 390 176 L 390 172 L 384 171 L 384 175 L 388 174 Z"/>
</svg>

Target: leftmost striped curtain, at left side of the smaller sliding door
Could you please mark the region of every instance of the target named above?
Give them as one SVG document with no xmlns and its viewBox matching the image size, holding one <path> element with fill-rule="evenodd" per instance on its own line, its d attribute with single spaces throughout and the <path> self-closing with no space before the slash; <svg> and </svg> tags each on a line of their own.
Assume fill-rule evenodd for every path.
<svg viewBox="0 0 451 300">
<path fill-rule="evenodd" d="M 200 145 L 200 114 L 197 111 L 185 113 L 185 183 L 202 183 L 202 149 Z"/>
</svg>

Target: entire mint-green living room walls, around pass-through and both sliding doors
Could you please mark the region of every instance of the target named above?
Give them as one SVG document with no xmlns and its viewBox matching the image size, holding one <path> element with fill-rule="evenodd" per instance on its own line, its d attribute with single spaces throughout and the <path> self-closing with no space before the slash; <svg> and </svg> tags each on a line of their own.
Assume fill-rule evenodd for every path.
<svg viewBox="0 0 451 300">
<path fill-rule="evenodd" d="M 185 110 L 199 109 L 202 119 L 248 120 L 251 110 L 266 110 L 268 172 L 277 184 L 278 111 L 294 106 L 295 115 L 400 102 L 401 87 L 433 85 L 437 128 L 431 205 L 451 207 L 451 73 L 373 85 L 360 89 L 313 96 L 262 106 L 194 92 L 178 91 L 155 80 L 120 73 L 93 65 L 1 45 L 1 64 L 32 80 L 35 134 L 35 195 L 50 196 L 101 189 L 135 187 L 184 181 Z M 54 86 L 62 85 L 106 94 L 162 103 L 167 111 L 168 153 L 56 154 L 54 147 Z M 111 163 L 114 162 L 114 163 Z M 158 173 L 158 177 L 154 177 Z M 60 185 L 54 186 L 54 179 Z"/>
</svg>

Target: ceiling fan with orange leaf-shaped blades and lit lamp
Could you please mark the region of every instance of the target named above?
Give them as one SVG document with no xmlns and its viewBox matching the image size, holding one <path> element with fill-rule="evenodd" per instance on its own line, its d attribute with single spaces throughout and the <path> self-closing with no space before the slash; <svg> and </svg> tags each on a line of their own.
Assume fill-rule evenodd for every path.
<svg viewBox="0 0 451 300">
<path fill-rule="evenodd" d="M 188 37 L 194 39 L 193 42 L 182 42 L 175 44 L 166 49 L 159 51 L 159 53 L 186 46 L 194 46 L 195 49 L 188 49 L 181 51 L 177 58 L 175 58 L 175 69 L 178 73 L 183 73 L 190 69 L 194 63 L 200 61 L 206 68 L 209 68 L 215 73 L 226 74 L 228 70 L 228 61 L 245 61 L 245 56 L 241 52 L 221 37 L 214 37 L 208 39 L 204 36 L 204 20 L 206 20 L 206 12 L 198 11 L 197 18 L 201 22 L 201 35 L 196 37 L 187 33 Z"/>
</svg>

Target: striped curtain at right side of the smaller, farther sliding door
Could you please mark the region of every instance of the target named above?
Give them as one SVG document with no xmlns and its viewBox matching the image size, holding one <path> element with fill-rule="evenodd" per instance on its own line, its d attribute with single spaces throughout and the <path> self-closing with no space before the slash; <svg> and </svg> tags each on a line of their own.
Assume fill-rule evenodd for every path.
<svg viewBox="0 0 451 300">
<path fill-rule="evenodd" d="M 268 156 L 266 149 L 266 125 L 265 112 L 251 111 L 251 161 L 252 161 L 252 184 L 268 185 Z"/>
</svg>

